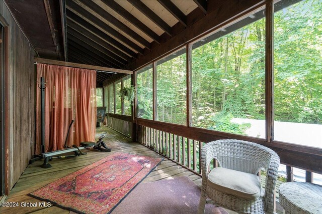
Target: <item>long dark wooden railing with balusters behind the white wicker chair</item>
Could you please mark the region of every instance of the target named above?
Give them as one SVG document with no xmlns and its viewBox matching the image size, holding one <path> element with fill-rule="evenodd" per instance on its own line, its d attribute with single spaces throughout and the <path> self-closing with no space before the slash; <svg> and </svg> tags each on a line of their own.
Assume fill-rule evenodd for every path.
<svg viewBox="0 0 322 214">
<path fill-rule="evenodd" d="M 293 167 L 306 170 L 306 182 L 313 182 L 312 172 L 322 174 L 320 164 L 322 155 L 318 154 L 318 150 L 315 151 L 316 154 L 294 151 L 290 146 L 286 149 L 279 143 L 268 143 L 264 139 L 141 118 L 136 118 L 136 127 L 138 142 L 199 175 L 201 175 L 199 154 L 202 146 L 213 140 L 228 138 L 252 141 L 273 149 L 279 155 L 281 163 L 287 166 L 287 181 L 293 181 Z M 297 147 L 294 145 L 295 149 Z M 215 166 L 216 162 L 213 161 L 210 167 Z"/>
</svg>

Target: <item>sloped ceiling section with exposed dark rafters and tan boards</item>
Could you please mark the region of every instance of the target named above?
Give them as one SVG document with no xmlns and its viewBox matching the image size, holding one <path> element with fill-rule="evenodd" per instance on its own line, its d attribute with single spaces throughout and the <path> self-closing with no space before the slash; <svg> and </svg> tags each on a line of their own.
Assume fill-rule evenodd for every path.
<svg viewBox="0 0 322 214">
<path fill-rule="evenodd" d="M 202 0 L 66 0 L 68 60 L 124 68 L 187 26 Z"/>
</svg>

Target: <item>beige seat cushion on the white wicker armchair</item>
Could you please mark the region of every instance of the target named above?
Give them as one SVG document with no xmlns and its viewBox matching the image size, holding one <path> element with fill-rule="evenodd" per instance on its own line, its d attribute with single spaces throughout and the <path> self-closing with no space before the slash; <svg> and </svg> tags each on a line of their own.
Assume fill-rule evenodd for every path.
<svg viewBox="0 0 322 214">
<path fill-rule="evenodd" d="M 208 185 L 223 193 L 248 200 L 256 200 L 261 195 L 259 176 L 232 169 L 214 168 L 208 175 Z"/>
</svg>

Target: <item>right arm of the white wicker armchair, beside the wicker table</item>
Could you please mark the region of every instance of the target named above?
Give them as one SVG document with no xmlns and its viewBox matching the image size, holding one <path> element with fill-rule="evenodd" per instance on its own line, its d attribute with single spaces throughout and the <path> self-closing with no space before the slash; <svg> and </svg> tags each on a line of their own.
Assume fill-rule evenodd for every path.
<svg viewBox="0 0 322 214">
<path fill-rule="evenodd" d="M 267 213 L 274 213 L 274 191 L 278 175 L 278 166 L 280 163 L 279 156 L 272 151 L 271 162 L 266 171 L 266 184 L 265 184 L 265 209 Z"/>
</svg>

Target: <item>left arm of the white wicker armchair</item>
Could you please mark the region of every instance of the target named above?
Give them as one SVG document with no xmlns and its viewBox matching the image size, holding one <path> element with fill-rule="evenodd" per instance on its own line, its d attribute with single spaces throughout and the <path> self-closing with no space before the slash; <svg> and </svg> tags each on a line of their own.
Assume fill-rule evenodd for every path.
<svg viewBox="0 0 322 214">
<path fill-rule="evenodd" d="M 201 191 L 205 192 L 207 187 L 207 178 L 208 178 L 208 165 L 216 158 L 214 152 L 212 152 L 211 146 L 214 144 L 213 142 L 209 142 L 204 145 L 201 149 L 201 174 L 202 174 L 202 184 L 201 184 Z"/>
</svg>

